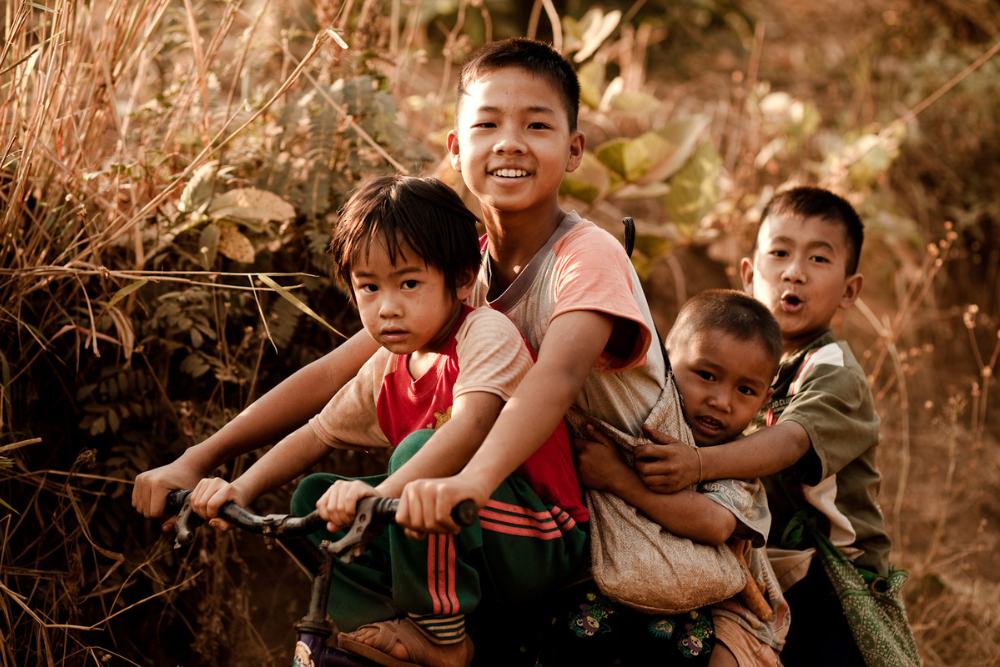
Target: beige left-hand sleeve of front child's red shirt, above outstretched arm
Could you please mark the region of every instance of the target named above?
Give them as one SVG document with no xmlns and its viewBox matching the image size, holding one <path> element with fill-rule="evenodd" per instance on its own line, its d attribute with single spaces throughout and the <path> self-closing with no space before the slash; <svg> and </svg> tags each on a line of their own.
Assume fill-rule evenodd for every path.
<svg viewBox="0 0 1000 667">
<path fill-rule="evenodd" d="M 309 420 L 309 427 L 328 447 L 341 449 L 389 447 L 378 425 L 375 401 L 393 355 L 379 348 L 358 374 Z"/>
</svg>

